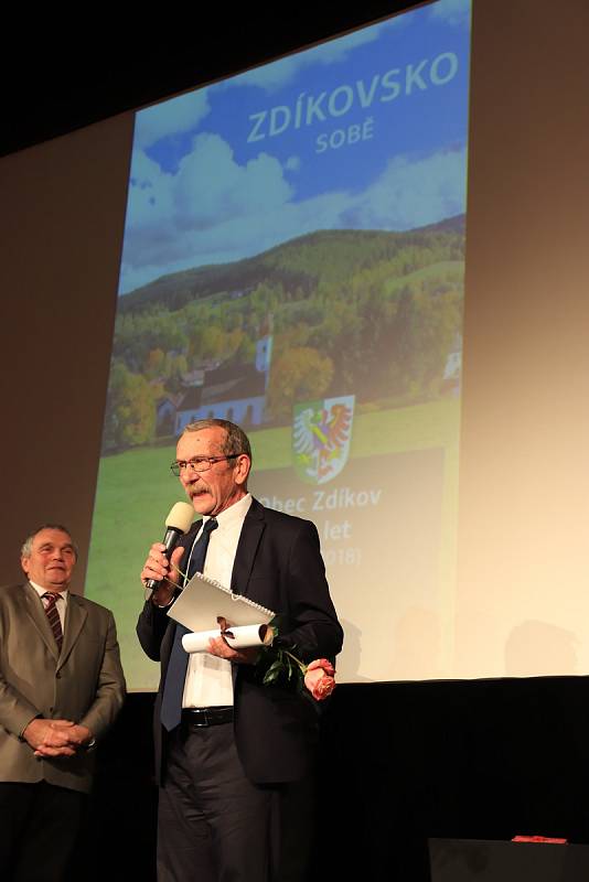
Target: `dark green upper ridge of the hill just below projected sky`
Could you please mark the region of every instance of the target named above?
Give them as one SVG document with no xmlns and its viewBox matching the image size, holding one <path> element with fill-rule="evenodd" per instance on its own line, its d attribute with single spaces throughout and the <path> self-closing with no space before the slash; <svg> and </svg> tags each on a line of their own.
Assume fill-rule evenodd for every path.
<svg viewBox="0 0 589 882">
<path fill-rule="evenodd" d="M 445 249 L 456 241 L 463 256 L 464 215 L 404 233 L 383 230 L 319 230 L 270 248 L 256 257 L 162 276 L 119 299 L 119 314 L 163 308 L 175 311 L 214 294 L 243 294 L 260 283 L 312 290 L 319 280 L 343 282 L 358 268 L 392 260 L 405 250 Z"/>
</svg>

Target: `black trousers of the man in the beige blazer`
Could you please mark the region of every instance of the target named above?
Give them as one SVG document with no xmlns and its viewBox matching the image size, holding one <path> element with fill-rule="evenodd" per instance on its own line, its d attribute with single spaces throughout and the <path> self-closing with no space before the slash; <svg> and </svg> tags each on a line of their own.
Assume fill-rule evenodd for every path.
<svg viewBox="0 0 589 882">
<path fill-rule="evenodd" d="M 44 781 L 0 783 L 2 882 L 64 882 L 87 799 Z"/>
</svg>

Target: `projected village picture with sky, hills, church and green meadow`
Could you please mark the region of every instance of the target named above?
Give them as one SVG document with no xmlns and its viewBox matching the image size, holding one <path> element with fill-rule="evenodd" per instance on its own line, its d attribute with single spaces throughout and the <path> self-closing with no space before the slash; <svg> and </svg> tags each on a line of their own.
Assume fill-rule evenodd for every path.
<svg viewBox="0 0 589 882">
<path fill-rule="evenodd" d="M 442 451 L 439 581 L 458 481 L 469 13 L 441 0 L 137 115 L 87 576 L 117 613 L 131 687 L 157 676 L 135 643 L 138 576 L 182 498 L 169 465 L 195 420 L 239 423 L 255 495 L 318 527 L 318 492 L 343 487 L 357 509 L 379 488 L 378 507 L 395 491 L 368 490 L 368 461 Z M 336 598 L 345 555 L 330 542 L 343 547 L 325 528 Z"/>
</svg>

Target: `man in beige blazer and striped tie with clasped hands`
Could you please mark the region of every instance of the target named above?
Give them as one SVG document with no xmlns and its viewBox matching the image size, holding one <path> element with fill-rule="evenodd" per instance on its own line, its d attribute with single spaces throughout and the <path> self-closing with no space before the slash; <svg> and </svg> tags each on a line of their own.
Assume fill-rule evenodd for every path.
<svg viewBox="0 0 589 882">
<path fill-rule="evenodd" d="M 0 589 L 2 878 L 65 879 L 96 741 L 122 706 L 113 614 L 68 591 L 77 550 L 46 525 L 23 545 L 25 584 Z"/>
</svg>

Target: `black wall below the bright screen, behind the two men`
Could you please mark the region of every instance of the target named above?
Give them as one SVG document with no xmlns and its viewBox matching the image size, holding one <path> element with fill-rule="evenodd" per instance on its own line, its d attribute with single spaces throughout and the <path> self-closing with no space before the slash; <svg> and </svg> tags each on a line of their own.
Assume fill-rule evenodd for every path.
<svg viewBox="0 0 589 882">
<path fill-rule="evenodd" d="M 587 699 L 586 678 L 338 687 L 323 721 L 313 882 L 428 882 L 428 837 L 589 842 Z M 151 696 L 129 696 L 100 749 L 84 846 L 97 854 L 92 879 L 111 871 L 116 849 L 135 878 L 154 880 L 151 708 Z"/>
</svg>

